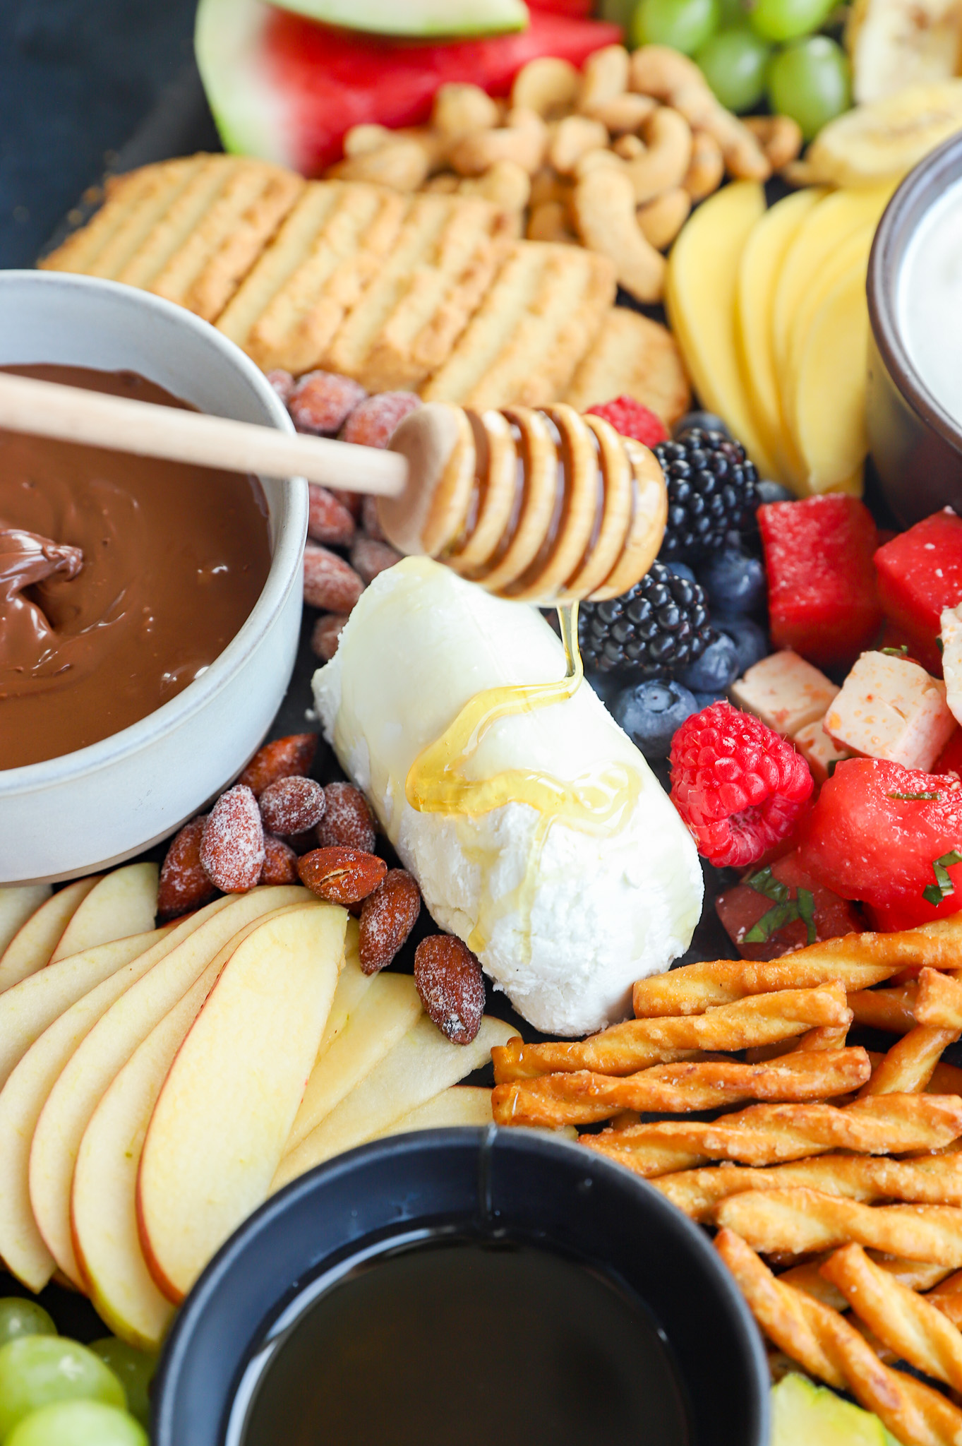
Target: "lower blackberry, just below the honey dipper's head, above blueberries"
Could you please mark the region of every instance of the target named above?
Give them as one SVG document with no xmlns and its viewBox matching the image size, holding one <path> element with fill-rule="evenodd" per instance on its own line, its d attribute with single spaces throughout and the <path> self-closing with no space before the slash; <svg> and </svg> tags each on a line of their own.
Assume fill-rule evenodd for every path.
<svg viewBox="0 0 962 1446">
<path fill-rule="evenodd" d="M 578 613 L 581 656 L 595 672 L 664 678 L 701 658 L 712 638 L 703 590 L 663 562 L 621 597 L 582 603 Z"/>
</svg>

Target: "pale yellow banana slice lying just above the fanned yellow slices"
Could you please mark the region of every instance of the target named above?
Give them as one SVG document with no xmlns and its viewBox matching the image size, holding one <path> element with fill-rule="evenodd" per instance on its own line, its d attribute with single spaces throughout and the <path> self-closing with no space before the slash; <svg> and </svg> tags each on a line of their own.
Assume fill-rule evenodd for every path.
<svg viewBox="0 0 962 1446">
<path fill-rule="evenodd" d="M 809 178 L 828 185 L 896 182 L 962 130 L 962 80 L 909 85 L 831 120 L 809 146 Z"/>
</svg>

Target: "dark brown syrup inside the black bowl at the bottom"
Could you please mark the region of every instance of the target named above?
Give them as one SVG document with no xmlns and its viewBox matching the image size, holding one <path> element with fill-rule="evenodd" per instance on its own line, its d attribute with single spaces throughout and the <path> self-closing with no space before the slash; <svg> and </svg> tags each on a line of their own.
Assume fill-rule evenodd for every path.
<svg viewBox="0 0 962 1446">
<path fill-rule="evenodd" d="M 614 1277 L 527 1244 L 435 1236 L 328 1281 L 248 1368 L 228 1442 L 692 1443 L 654 1319 Z"/>
</svg>

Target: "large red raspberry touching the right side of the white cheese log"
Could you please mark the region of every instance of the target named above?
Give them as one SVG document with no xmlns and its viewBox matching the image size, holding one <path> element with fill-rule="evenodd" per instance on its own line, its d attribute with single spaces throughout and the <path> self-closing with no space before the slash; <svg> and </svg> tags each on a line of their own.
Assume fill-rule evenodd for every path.
<svg viewBox="0 0 962 1446">
<path fill-rule="evenodd" d="M 757 863 L 812 794 L 800 753 L 750 713 L 712 703 L 672 740 L 672 803 L 715 868 Z"/>
</svg>

